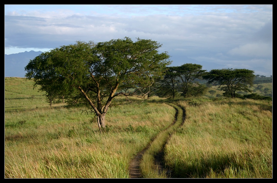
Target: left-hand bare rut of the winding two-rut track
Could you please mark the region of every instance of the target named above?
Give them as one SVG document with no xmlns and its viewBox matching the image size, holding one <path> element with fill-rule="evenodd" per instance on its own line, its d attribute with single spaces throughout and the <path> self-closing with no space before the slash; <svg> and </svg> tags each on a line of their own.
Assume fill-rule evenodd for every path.
<svg viewBox="0 0 277 183">
<path fill-rule="evenodd" d="M 175 116 L 174 116 L 174 121 L 162 132 L 166 131 L 169 127 L 171 127 L 172 125 L 174 125 L 176 123 L 179 111 L 176 107 L 174 107 L 174 108 L 176 111 Z M 147 149 L 149 149 L 151 143 L 156 139 L 156 137 L 141 152 L 137 153 L 136 156 L 131 160 L 131 162 L 129 164 L 129 177 L 130 178 L 142 178 L 142 173 L 140 170 L 140 163 L 141 163 L 142 156 L 147 151 Z M 163 156 L 161 155 L 161 156 L 158 156 L 157 158 L 159 158 L 159 157 L 163 157 Z M 158 166 L 160 166 L 160 170 L 163 169 L 162 165 L 158 165 Z"/>
</svg>

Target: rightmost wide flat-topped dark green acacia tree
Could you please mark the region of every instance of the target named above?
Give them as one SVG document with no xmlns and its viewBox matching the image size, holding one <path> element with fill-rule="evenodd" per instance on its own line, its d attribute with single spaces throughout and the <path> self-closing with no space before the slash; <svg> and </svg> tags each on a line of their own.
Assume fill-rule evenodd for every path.
<svg viewBox="0 0 277 183">
<path fill-rule="evenodd" d="M 210 70 L 203 79 L 208 80 L 208 84 L 219 85 L 225 94 L 234 98 L 237 91 L 252 92 L 249 86 L 252 86 L 255 77 L 253 70 L 228 68 Z"/>
</svg>

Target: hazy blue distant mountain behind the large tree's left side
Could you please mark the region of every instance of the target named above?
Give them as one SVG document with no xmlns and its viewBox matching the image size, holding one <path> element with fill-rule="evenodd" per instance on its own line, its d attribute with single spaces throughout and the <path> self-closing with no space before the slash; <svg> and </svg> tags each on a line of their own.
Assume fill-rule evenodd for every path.
<svg viewBox="0 0 277 183">
<path fill-rule="evenodd" d="M 39 56 L 42 51 L 25 51 L 22 53 L 15 53 L 6 55 L 5 54 L 5 77 L 25 77 L 26 65 L 30 60 Z"/>
</svg>

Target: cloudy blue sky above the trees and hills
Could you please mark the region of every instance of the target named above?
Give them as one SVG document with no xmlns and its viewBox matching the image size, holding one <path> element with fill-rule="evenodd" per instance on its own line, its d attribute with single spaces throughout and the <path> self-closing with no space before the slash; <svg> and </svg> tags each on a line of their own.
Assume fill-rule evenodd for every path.
<svg viewBox="0 0 277 183">
<path fill-rule="evenodd" d="M 5 54 L 139 37 L 163 44 L 174 66 L 191 59 L 272 75 L 272 5 L 7 4 L 4 14 Z"/>
</svg>

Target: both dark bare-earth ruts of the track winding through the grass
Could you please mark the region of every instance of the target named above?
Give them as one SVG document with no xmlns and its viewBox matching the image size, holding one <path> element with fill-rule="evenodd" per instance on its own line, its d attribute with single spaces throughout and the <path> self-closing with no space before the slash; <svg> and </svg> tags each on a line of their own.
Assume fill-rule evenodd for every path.
<svg viewBox="0 0 277 183">
<path fill-rule="evenodd" d="M 182 123 L 183 123 L 184 120 L 185 120 L 185 110 L 183 108 L 182 108 L 182 110 L 183 110 L 183 121 L 182 121 Z M 175 108 L 175 111 L 176 111 L 176 113 L 175 113 L 174 121 L 171 123 L 171 125 L 169 125 L 169 127 L 171 127 L 177 121 L 177 116 L 178 116 L 177 108 Z M 169 127 L 167 127 L 166 129 L 168 129 Z M 167 143 L 167 141 L 166 141 L 166 143 Z M 159 172 L 161 173 L 163 171 L 166 171 L 167 177 L 170 178 L 171 177 L 170 176 L 171 171 L 166 169 L 165 163 L 163 161 L 163 159 L 164 159 L 164 147 L 166 146 L 166 143 L 163 144 L 163 146 L 161 147 L 159 153 L 155 155 L 154 161 L 155 161 L 155 165 L 159 169 Z M 141 152 L 136 154 L 136 156 L 130 162 L 130 165 L 129 165 L 129 177 L 130 178 L 142 178 L 142 174 L 141 174 L 141 171 L 140 171 L 141 158 L 142 158 L 144 152 L 149 148 L 150 145 L 151 145 L 151 143 L 146 148 L 144 148 Z"/>
</svg>

